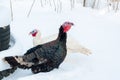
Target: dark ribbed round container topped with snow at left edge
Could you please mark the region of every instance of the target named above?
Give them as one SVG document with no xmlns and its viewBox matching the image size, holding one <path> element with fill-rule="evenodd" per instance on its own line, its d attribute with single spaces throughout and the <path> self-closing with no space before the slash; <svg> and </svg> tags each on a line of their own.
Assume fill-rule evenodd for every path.
<svg viewBox="0 0 120 80">
<path fill-rule="evenodd" d="M 0 51 L 9 48 L 10 42 L 10 25 L 0 27 Z"/>
</svg>

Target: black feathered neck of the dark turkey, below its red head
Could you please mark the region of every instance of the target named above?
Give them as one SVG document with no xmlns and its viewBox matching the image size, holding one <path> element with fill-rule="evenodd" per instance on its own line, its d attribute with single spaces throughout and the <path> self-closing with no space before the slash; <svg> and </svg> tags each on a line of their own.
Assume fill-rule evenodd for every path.
<svg viewBox="0 0 120 80">
<path fill-rule="evenodd" d="M 58 34 L 57 40 L 66 43 L 66 39 L 67 39 L 67 33 L 63 32 L 63 27 L 61 26 L 59 29 L 59 34 Z"/>
</svg>

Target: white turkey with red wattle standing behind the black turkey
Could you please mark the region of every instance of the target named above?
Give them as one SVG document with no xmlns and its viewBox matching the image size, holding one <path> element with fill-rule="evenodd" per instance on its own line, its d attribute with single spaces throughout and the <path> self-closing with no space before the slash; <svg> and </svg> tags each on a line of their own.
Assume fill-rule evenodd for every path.
<svg viewBox="0 0 120 80">
<path fill-rule="evenodd" d="M 57 34 L 53 34 L 51 36 L 41 38 L 41 32 L 38 29 L 34 29 L 29 33 L 33 37 L 33 46 L 43 44 L 49 41 L 52 41 L 57 38 Z M 67 53 L 83 53 L 85 55 L 90 55 L 91 51 L 86 47 L 79 44 L 77 40 L 75 40 L 72 36 L 68 35 L 67 38 Z"/>
</svg>

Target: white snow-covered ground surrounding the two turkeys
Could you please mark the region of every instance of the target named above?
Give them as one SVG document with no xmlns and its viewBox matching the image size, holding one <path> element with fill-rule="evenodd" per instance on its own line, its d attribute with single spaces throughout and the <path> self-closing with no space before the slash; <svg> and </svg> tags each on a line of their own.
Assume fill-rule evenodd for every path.
<svg viewBox="0 0 120 80">
<path fill-rule="evenodd" d="M 92 55 L 69 53 L 59 69 L 48 73 L 32 74 L 30 70 L 17 69 L 3 80 L 119 80 L 120 79 L 120 13 L 106 13 L 76 5 L 70 9 L 64 3 L 60 13 L 50 6 L 40 6 L 36 0 L 27 17 L 32 0 L 13 0 L 11 33 L 15 45 L 0 52 L 0 71 L 9 68 L 2 61 L 5 56 L 22 55 L 31 48 L 29 32 L 38 28 L 42 37 L 58 33 L 64 21 L 75 26 L 68 32 L 78 42 L 91 49 Z M 66 5 L 65 5 L 66 4 Z M 104 14 L 106 13 L 106 14 Z"/>
</svg>

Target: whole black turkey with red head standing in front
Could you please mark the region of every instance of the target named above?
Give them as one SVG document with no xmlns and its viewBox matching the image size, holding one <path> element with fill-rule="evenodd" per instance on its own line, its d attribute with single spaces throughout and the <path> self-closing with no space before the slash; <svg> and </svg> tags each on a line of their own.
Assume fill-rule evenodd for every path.
<svg viewBox="0 0 120 80">
<path fill-rule="evenodd" d="M 66 32 L 72 25 L 73 23 L 71 22 L 62 24 L 56 40 L 35 46 L 29 49 L 23 56 L 5 57 L 4 60 L 11 67 L 31 68 L 33 73 L 49 72 L 54 68 L 59 68 L 67 54 Z"/>
</svg>

